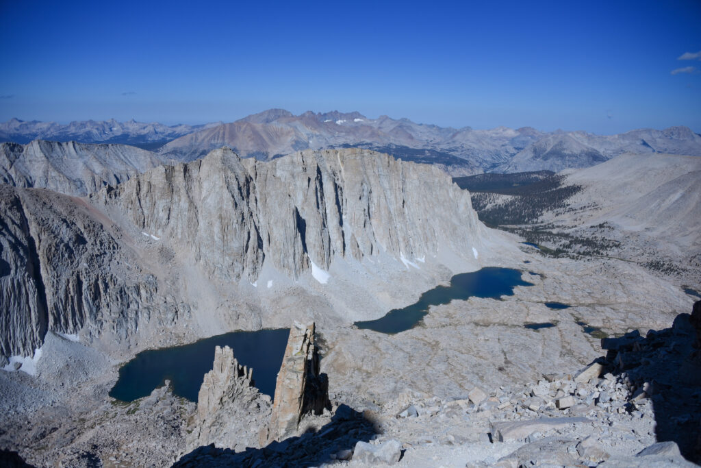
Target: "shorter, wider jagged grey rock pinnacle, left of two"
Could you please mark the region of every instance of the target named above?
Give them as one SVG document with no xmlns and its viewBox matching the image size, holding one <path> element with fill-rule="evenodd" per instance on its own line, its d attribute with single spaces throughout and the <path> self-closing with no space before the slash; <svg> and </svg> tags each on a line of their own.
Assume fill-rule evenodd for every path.
<svg viewBox="0 0 701 468">
<path fill-rule="evenodd" d="M 233 350 L 215 348 L 212 370 L 205 374 L 197 399 L 196 429 L 190 448 L 214 444 L 243 450 L 258 445 L 259 429 L 271 413 L 270 397 L 253 386 L 253 369 L 241 366 Z"/>
</svg>

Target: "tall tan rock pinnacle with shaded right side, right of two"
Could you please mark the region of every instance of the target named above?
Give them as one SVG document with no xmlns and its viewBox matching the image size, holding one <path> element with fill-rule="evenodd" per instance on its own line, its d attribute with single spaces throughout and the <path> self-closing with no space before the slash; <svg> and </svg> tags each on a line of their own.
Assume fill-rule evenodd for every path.
<svg viewBox="0 0 701 468">
<path fill-rule="evenodd" d="M 329 406 L 328 380 L 319 373 L 319 350 L 314 323 L 295 322 L 290 328 L 283 365 L 275 384 L 268 441 L 282 440 L 297 431 L 306 413 L 321 414 Z"/>
</svg>

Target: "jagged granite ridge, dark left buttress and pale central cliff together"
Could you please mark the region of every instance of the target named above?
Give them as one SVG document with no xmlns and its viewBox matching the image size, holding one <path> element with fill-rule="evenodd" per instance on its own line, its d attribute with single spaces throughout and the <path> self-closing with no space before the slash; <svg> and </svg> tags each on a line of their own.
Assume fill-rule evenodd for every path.
<svg viewBox="0 0 701 468">
<path fill-rule="evenodd" d="M 299 279 L 372 255 L 467 253 L 484 236 L 440 169 L 363 149 L 268 162 L 217 149 L 87 199 L 0 188 L 3 359 L 31 355 L 46 330 L 123 342 L 187 321 L 175 279 L 193 265 L 226 291 L 264 265 Z M 159 255 L 184 260 L 165 271 Z"/>
</svg>

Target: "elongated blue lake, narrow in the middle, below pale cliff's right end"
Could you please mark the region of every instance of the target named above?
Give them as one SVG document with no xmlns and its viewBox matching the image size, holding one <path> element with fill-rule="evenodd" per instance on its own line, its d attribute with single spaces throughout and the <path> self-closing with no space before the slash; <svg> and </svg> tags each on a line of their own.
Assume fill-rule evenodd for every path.
<svg viewBox="0 0 701 468">
<path fill-rule="evenodd" d="M 450 286 L 437 286 L 423 293 L 415 304 L 403 309 L 392 309 L 376 320 L 355 322 L 358 328 L 380 333 L 400 333 L 413 328 L 432 305 L 449 304 L 451 300 L 468 300 L 470 297 L 501 297 L 513 295 L 515 286 L 533 286 L 523 281 L 521 272 L 512 268 L 486 267 L 477 272 L 456 274 Z"/>
</svg>

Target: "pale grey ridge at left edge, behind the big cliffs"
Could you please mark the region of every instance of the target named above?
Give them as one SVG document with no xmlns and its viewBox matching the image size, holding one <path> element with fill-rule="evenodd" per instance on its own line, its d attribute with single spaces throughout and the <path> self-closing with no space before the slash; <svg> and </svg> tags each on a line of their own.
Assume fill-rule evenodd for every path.
<svg viewBox="0 0 701 468">
<path fill-rule="evenodd" d="M 0 144 L 0 183 L 85 196 L 161 164 L 156 154 L 127 145 L 34 140 Z"/>
</svg>

